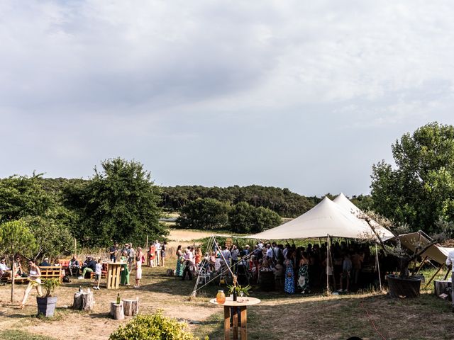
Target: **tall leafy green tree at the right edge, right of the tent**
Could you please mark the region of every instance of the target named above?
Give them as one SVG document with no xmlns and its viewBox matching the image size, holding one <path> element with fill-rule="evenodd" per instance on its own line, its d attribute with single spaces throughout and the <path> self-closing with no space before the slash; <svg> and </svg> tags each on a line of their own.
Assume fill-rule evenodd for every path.
<svg viewBox="0 0 454 340">
<path fill-rule="evenodd" d="M 454 127 L 429 123 L 392 145 L 395 166 L 372 166 L 375 211 L 412 230 L 439 232 L 454 220 Z"/>
</svg>

